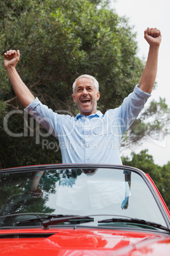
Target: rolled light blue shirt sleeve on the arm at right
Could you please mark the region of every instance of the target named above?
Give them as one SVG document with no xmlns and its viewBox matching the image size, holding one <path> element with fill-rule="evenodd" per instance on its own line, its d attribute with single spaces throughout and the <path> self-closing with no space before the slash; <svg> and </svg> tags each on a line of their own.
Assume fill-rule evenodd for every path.
<svg viewBox="0 0 170 256">
<path fill-rule="evenodd" d="M 140 90 L 138 85 L 136 85 L 133 92 L 124 99 L 120 107 L 122 133 L 133 124 L 150 96 L 151 94 L 143 92 L 143 90 Z"/>
</svg>

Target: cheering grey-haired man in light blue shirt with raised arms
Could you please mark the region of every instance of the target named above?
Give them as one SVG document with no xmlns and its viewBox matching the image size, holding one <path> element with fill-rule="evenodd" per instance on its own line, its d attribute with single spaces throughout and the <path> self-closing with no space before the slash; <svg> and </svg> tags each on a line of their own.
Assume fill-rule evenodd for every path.
<svg viewBox="0 0 170 256">
<path fill-rule="evenodd" d="M 74 82 L 72 97 L 80 113 L 76 117 L 58 115 L 35 99 L 22 82 L 15 69 L 20 52 L 10 50 L 4 53 L 4 65 L 16 96 L 25 111 L 58 138 L 63 162 L 122 164 L 119 153 L 121 136 L 150 97 L 157 73 L 161 34 L 156 28 L 147 28 L 144 33 L 150 48 L 140 83 L 119 108 L 108 110 L 105 115 L 96 110 L 100 92 L 93 76 L 82 75 Z"/>
</svg>

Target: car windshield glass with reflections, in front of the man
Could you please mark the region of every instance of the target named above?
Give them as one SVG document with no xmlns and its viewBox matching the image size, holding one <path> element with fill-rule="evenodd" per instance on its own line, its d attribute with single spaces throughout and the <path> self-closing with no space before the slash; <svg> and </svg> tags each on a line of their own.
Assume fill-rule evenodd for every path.
<svg viewBox="0 0 170 256">
<path fill-rule="evenodd" d="M 116 215 L 139 218 L 167 227 L 145 179 L 129 169 L 79 167 L 0 174 L 0 226 L 29 218 L 26 213 L 52 215 Z M 22 217 L 22 218 L 21 218 Z M 111 218 L 111 217 L 110 217 Z M 15 222 L 16 222 L 15 220 Z"/>
</svg>

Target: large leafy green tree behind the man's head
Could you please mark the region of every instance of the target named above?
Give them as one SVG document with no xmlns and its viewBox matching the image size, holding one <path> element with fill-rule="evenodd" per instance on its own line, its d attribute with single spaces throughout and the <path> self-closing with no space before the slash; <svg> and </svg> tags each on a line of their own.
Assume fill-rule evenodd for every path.
<svg viewBox="0 0 170 256">
<path fill-rule="evenodd" d="M 11 115 L 8 127 L 19 134 L 23 123 L 28 123 L 28 136 L 14 138 L 4 131 L 6 113 L 22 110 L 4 70 L 6 50 L 20 49 L 18 73 L 34 95 L 54 111 L 77 113 L 71 97 L 72 83 L 82 73 L 89 73 L 100 82 L 98 108 L 103 112 L 119 106 L 139 82 L 143 62 L 136 57 L 133 28 L 102 2 L 1 1 L 1 167 L 61 162 L 56 148 L 43 148 L 44 138 L 35 143 L 37 125 L 25 120 L 22 112 Z M 48 139 L 56 142 L 52 137 Z"/>
</svg>

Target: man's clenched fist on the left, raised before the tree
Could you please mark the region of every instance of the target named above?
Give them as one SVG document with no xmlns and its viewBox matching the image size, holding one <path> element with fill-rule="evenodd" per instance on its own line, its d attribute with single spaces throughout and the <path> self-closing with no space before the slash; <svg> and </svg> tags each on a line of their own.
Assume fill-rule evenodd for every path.
<svg viewBox="0 0 170 256">
<path fill-rule="evenodd" d="M 17 50 L 9 50 L 4 53 L 4 67 L 7 68 L 15 68 L 16 64 L 20 59 L 20 51 Z"/>
</svg>

